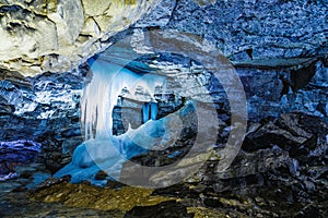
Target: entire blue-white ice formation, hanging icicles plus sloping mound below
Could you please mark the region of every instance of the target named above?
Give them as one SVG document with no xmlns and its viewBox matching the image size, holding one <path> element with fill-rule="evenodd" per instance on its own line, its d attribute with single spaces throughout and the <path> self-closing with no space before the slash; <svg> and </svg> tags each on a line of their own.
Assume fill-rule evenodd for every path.
<svg viewBox="0 0 328 218">
<path fill-rule="evenodd" d="M 93 178 L 99 169 L 118 180 L 127 159 L 165 143 L 163 138 L 167 141 L 177 136 L 165 128 L 172 123 L 173 118 L 156 120 L 154 90 L 164 85 L 164 76 L 138 74 L 103 59 L 91 59 L 90 65 L 93 78 L 84 88 L 81 100 L 85 142 L 77 147 L 72 161 L 55 174 L 70 174 L 74 183 L 84 180 L 95 182 Z M 140 86 L 151 97 L 151 102 L 145 102 L 143 107 L 144 124 L 137 130 L 129 128 L 122 135 L 113 135 L 112 113 L 118 96 L 124 88 L 133 94 Z"/>
</svg>

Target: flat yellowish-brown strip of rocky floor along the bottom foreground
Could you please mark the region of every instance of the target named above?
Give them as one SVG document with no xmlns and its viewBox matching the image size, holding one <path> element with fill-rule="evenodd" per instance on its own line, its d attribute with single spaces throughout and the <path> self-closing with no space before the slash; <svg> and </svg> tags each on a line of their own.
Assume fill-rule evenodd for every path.
<svg viewBox="0 0 328 218">
<path fill-rule="evenodd" d="M 260 197 L 199 193 L 186 184 L 153 191 L 129 186 L 99 189 L 60 181 L 36 192 L 15 187 L 1 193 L 0 198 L 1 217 L 278 217 L 257 206 L 267 204 Z"/>
</svg>

